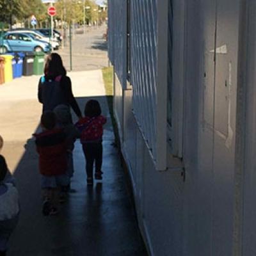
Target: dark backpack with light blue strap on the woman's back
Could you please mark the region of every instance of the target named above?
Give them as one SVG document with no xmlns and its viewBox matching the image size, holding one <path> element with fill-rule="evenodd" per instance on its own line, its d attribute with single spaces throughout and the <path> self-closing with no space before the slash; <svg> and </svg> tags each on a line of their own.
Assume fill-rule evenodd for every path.
<svg viewBox="0 0 256 256">
<path fill-rule="evenodd" d="M 60 81 L 61 76 L 49 81 L 44 76 L 41 77 L 43 112 L 52 111 L 56 106 L 66 103 Z"/>
</svg>

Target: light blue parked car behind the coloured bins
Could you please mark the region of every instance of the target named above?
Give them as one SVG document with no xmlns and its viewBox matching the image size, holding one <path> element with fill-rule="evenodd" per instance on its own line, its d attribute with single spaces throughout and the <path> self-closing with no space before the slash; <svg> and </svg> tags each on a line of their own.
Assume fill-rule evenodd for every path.
<svg viewBox="0 0 256 256">
<path fill-rule="evenodd" d="M 3 36 L 3 45 L 0 46 L 0 53 L 8 51 L 50 51 L 50 45 L 47 42 L 36 40 L 35 36 L 19 32 L 7 32 Z"/>
</svg>

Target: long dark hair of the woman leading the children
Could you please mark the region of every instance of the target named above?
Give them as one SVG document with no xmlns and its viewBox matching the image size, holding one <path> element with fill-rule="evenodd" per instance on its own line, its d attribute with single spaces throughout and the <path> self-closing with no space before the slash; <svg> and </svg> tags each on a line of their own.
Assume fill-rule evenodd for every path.
<svg viewBox="0 0 256 256">
<path fill-rule="evenodd" d="M 45 76 L 66 76 L 67 71 L 63 66 L 61 56 L 58 53 L 51 53 L 47 56 L 45 65 L 44 65 L 44 74 Z"/>
</svg>

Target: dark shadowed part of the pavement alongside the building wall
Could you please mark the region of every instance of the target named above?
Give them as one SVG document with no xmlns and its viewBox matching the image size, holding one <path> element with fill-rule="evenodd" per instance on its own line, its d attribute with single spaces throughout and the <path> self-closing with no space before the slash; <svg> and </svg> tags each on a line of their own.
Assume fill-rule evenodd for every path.
<svg viewBox="0 0 256 256">
<path fill-rule="evenodd" d="M 19 224 L 10 239 L 8 256 L 147 255 L 125 189 L 118 152 L 113 147 L 115 138 L 106 97 L 92 98 L 99 100 L 102 115 L 108 117 L 103 138 L 103 182 L 86 186 L 83 150 L 76 141 L 72 193 L 60 206 L 58 216 L 43 216 L 38 156 L 35 141 L 29 138 L 14 174 L 21 212 Z M 82 112 L 88 99 L 77 98 Z"/>
</svg>

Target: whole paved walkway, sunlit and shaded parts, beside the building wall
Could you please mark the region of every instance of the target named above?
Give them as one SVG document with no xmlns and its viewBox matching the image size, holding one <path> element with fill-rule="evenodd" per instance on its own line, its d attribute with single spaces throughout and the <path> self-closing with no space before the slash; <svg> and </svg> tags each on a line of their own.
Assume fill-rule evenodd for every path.
<svg viewBox="0 0 256 256">
<path fill-rule="evenodd" d="M 100 70 L 70 74 L 77 101 L 100 101 L 108 116 L 104 130 L 102 183 L 86 186 L 79 141 L 74 150 L 75 175 L 68 202 L 58 216 L 42 216 L 38 156 L 31 134 L 38 129 L 41 105 L 36 100 L 38 78 L 22 77 L 0 86 L 1 152 L 17 180 L 20 221 L 10 239 L 8 256 L 136 256 L 147 255 L 136 216 L 125 189 Z M 76 120 L 76 118 L 74 118 Z"/>
</svg>

